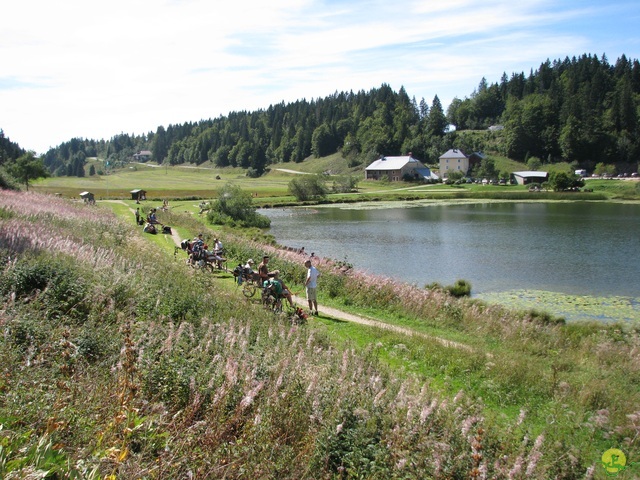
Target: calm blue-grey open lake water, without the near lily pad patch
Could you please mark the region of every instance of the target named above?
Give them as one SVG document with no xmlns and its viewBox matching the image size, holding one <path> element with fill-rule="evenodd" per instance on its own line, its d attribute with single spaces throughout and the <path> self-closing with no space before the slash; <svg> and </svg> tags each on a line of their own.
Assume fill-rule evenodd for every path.
<svg viewBox="0 0 640 480">
<path fill-rule="evenodd" d="M 473 203 L 263 210 L 278 243 L 423 286 L 472 294 L 640 295 L 640 205 Z"/>
</svg>

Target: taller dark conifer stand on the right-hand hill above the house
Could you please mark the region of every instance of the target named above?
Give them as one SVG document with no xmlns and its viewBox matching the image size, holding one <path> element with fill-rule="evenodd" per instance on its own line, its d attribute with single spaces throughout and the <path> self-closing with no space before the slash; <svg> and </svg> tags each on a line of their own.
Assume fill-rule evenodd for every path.
<svg viewBox="0 0 640 480">
<path fill-rule="evenodd" d="M 504 155 L 526 161 L 598 162 L 637 170 L 640 154 L 640 63 L 620 57 L 547 60 L 528 77 L 483 79 L 447 116 L 459 130 L 505 127 Z"/>
</svg>

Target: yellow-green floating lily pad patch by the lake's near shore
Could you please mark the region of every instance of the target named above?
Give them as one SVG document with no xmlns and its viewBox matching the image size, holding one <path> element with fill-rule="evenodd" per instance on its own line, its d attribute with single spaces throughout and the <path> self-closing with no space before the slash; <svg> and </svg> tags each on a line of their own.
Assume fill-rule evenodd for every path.
<svg viewBox="0 0 640 480">
<path fill-rule="evenodd" d="M 483 293 L 475 298 L 508 308 L 543 310 L 568 321 L 640 321 L 639 297 L 594 297 L 544 290 L 510 290 Z"/>
</svg>

